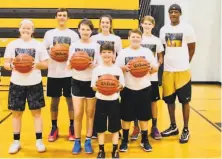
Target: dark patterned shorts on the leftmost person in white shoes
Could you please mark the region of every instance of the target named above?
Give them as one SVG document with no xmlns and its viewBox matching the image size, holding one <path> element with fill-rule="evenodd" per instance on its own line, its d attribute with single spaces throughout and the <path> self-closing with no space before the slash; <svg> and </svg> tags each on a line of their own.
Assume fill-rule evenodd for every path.
<svg viewBox="0 0 222 159">
<path fill-rule="evenodd" d="M 32 86 L 20 86 L 10 83 L 8 109 L 24 111 L 26 99 L 30 110 L 40 109 L 45 106 L 42 82 Z"/>
</svg>

